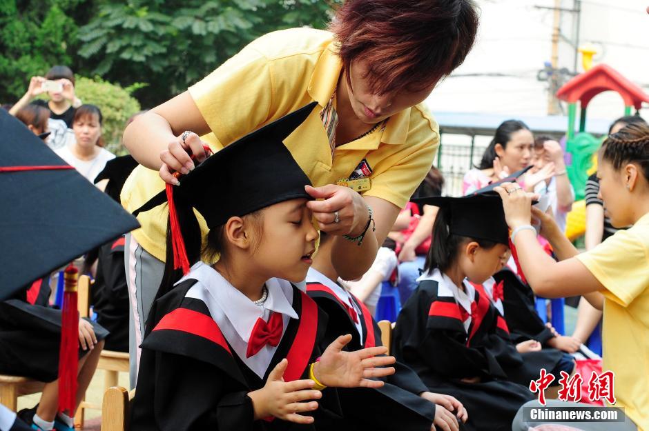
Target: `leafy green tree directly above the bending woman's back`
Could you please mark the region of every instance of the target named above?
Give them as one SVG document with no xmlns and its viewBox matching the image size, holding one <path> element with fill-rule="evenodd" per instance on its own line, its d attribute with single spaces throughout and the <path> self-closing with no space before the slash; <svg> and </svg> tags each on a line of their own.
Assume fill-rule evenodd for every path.
<svg viewBox="0 0 649 431">
<path fill-rule="evenodd" d="M 144 106 L 184 91 L 260 35 L 298 26 L 324 28 L 340 0 L 104 1 L 79 29 L 91 71 L 128 86 Z"/>
</svg>

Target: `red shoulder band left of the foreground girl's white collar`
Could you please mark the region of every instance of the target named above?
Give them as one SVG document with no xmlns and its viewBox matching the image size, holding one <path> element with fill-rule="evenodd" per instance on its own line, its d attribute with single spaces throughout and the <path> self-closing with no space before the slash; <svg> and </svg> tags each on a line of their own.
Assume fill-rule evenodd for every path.
<svg viewBox="0 0 649 431">
<path fill-rule="evenodd" d="M 232 354 L 219 326 L 206 314 L 189 310 L 188 308 L 176 308 L 160 319 L 153 330 L 159 331 L 165 329 L 188 332 L 189 334 L 208 339 L 220 345 L 229 354 Z"/>
</svg>

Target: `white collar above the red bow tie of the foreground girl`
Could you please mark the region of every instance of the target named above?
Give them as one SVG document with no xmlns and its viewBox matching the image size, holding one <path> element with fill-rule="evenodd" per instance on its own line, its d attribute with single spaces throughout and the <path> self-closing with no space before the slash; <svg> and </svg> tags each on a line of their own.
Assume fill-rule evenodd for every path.
<svg viewBox="0 0 649 431">
<path fill-rule="evenodd" d="M 250 339 L 257 319 L 263 318 L 264 310 L 279 312 L 291 319 L 298 319 L 298 314 L 291 305 L 293 288 L 289 281 L 269 279 L 266 282 L 268 298 L 263 306 L 259 306 L 231 285 L 217 270 L 201 261 L 195 263 L 190 272 L 178 283 L 186 279 L 195 279 L 205 286 L 210 296 L 220 305 L 239 337 L 246 343 Z"/>
</svg>

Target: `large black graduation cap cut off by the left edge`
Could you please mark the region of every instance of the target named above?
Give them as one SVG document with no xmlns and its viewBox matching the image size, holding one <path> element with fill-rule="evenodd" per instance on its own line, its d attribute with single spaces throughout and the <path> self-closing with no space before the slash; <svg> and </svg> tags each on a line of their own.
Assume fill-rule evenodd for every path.
<svg viewBox="0 0 649 431">
<path fill-rule="evenodd" d="M 4 110 L 0 202 L 0 299 L 139 227 L 122 206 Z"/>
</svg>

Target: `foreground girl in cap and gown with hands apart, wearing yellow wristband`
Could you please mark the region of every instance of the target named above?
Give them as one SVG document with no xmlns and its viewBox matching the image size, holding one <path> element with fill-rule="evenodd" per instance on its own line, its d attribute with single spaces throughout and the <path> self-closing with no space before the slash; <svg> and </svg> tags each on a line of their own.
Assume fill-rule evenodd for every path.
<svg viewBox="0 0 649 431">
<path fill-rule="evenodd" d="M 318 232 L 306 206 L 309 179 L 282 140 L 314 105 L 217 152 L 173 188 L 166 277 L 142 343 L 134 429 L 309 429 L 307 414 L 340 417 L 327 386 L 377 388 L 382 381 L 369 378 L 394 372 L 380 368 L 394 362 L 376 356 L 386 348 L 343 352 L 350 334 L 321 345 L 327 316 L 293 285 L 306 277 Z M 209 228 L 207 250 L 220 254 L 213 265 L 200 260 L 193 210 Z M 191 268 L 183 269 L 185 253 Z M 186 274 L 174 284 L 182 275 L 175 264 Z"/>
</svg>

